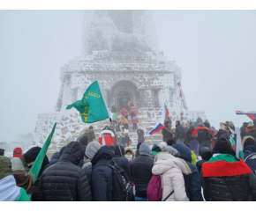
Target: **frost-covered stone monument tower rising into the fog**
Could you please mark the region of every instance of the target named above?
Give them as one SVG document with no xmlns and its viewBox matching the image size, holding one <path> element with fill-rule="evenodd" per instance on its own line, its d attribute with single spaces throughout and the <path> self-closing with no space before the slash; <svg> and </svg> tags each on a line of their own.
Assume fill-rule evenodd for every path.
<svg viewBox="0 0 256 211">
<path fill-rule="evenodd" d="M 89 125 L 81 121 L 75 109 L 65 108 L 82 98 L 95 80 L 109 108 L 116 105 L 122 109 L 132 100 L 140 126 L 146 130 L 147 120 L 152 125 L 161 118 L 163 104 L 171 120 L 179 120 L 181 112 L 184 120 L 205 119 L 204 112 L 188 110 L 184 92 L 179 98 L 177 82 L 181 78 L 181 69 L 159 49 L 152 11 L 85 11 L 81 53 L 61 68 L 56 112 L 39 114 L 34 141 L 44 142 L 54 122 L 57 126 L 52 142 L 57 148 L 76 140 Z M 100 131 L 104 124 L 109 123 L 91 125 Z"/>
</svg>

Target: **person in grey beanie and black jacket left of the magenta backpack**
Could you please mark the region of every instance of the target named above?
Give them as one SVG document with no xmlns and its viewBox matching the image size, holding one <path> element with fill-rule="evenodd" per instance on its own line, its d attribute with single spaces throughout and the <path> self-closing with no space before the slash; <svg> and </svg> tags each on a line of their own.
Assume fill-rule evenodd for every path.
<svg viewBox="0 0 256 211">
<path fill-rule="evenodd" d="M 146 143 L 139 147 L 139 156 L 132 159 L 130 172 L 135 184 L 135 201 L 147 200 L 147 186 L 153 176 L 154 159 L 150 157 L 150 148 Z"/>
</svg>

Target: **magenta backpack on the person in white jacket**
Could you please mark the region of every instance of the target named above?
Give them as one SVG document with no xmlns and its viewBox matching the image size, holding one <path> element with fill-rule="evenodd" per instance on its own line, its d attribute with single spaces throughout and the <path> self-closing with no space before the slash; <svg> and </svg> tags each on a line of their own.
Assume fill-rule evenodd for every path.
<svg viewBox="0 0 256 211">
<path fill-rule="evenodd" d="M 162 200 L 162 176 L 153 175 L 147 186 L 147 200 L 148 201 L 165 201 L 169 196 L 174 193 L 169 193 L 164 200 Z"/>
</svg>

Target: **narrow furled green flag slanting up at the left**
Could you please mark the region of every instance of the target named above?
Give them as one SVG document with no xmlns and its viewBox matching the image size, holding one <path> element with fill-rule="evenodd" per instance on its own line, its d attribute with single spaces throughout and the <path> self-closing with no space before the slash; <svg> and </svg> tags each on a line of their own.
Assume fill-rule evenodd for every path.
<svg viewBox="0 0 256 211">
<path fill-rule="evenodd" d="M 52 128 L 47 140 L 44 142 L 43 147 L 41 148 L 38 156 L 36 157 L 34 164 L 32 165 L 29 174 L 33 177 L 33 183 L 38 177 L 39 172 L 41 171 L 41 164 L 43 162 L 44 156 L 46 155 L 47 149 L 49 148 L 50 141 L 52 139 L 52 135 L 54 134 L 56 127 L 56 123 L 54 124 L 54 127 Z"/>
</svg>

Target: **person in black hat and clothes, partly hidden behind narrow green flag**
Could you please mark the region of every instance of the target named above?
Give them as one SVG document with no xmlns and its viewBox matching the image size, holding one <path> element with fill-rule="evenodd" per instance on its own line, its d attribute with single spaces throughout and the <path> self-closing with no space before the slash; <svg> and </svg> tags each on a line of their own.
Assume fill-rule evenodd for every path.
<svg viewBox="0 0 256 211">
<path fill-rule="evenodd" d="M 30 169 L 32 167 L 32 165 L 34 164 L 34 161 L 36 159 L 36 157 L 38 156 L 38 154 L 41 151 L 41 147 L 34 147 L 31 149 L 28 149 L 26 151 L 26 153 L 23 155 L 26 165 L 27 167 Z M 38 193 L 38 186 L 39 186 L 39 182 L 41 179 L 41 174 L 43 171 L 45 171 L 47 168 L 49 167 L 49 159 L 48 156 L 44 156 L 42 164 L 41 164 L 41 170 L 39 171 L 38 177 L 34 182 L 34 187 L 33 187 L 33 194 L 31 195 L 31 199 L 32 200 L 37 200 L 37 193 Z"/>
</svg>

